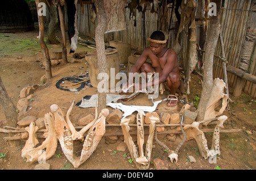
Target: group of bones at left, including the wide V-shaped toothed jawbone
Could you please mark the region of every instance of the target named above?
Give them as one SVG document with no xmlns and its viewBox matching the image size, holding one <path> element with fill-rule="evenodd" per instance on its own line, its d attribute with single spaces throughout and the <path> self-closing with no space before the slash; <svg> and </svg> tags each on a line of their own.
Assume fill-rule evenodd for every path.
<svg viewBox="0 0 256 181">
<path fill-rule="evenodd" d="M 37 148 L 35 148 L 35 146 L 39 143 L 36 136 L 38 127 L 35 126 L 34 122 L 30 124 L 30 127 L 27 127 L 29 137 L 26 141 L 26 145 L 22 149 L 22 157 L 27 158 L 27 162 L 33 163 L 38 161 L 40 163 L 51 158 L 52 155 L 55 154 L 57 140 L 60 142 L 65 157 L 67 157 L 68 161 L 71 162 L 75 168 L 78 168 L 90 157 L 97 148 L 102 136 L 105 134 L 105 119 L 109 115 L 109 110 L 102 110 L 98 116 L 96 108 L 95 119 L 77 132 L 69 119 L 73 105 L 74 102 L 71 104 L 67 115 L 64 116 L 60 107 L 56 104 L 52 104 L 51 112 L 44 116 L 44 123 L 47 127 L 46 140 Z M 66 119 L 64 117 L 66 117 Z M 84 139 L 86 131 L 88 131 L 88 134 Z M 73 141 L 75 140 L 84 141 L 80 157 L 74 154 Z"/>
</svg>

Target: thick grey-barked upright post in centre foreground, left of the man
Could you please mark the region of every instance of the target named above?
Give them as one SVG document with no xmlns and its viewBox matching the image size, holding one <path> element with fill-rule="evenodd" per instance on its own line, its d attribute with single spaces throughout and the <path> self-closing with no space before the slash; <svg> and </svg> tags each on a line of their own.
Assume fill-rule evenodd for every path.
<svg viewBox="0 0 256 181">
<path fill-rule="evenodd" d="M 95 40 L 97 48 L 97 58 L 98 58 L 98 70 L 99 73 L 106 73 L 106 53 L 105 53 L 105 43 L 104 43 L 104 34 L 106 31 L 106 12 L 104 1 L 95 0 L 94 4 L 96 6 L 97 14 L 97 26 L 95 31 Z M 105 80 L 104 80 L 105 81 Z M 105 85 L 108 82 L 105 82 Z M 101 112 L 106 108 L 106 92 L 99 92 L 98 94 L 98 112 Z"/>
</svg>

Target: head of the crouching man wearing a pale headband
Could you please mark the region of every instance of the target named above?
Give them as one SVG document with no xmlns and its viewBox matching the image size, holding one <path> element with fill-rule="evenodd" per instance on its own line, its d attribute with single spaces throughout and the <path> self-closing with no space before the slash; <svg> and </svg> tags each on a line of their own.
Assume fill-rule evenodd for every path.
<svg viewBox="0 0 256 181">
<path fill-rule="evenodd" d="M 150 42 L 151 52 L 155 55 L 162 52 L 166 46 L 166 39 L 162 31 L 154 31 L 151 36 L 147 39 Z"/>
</svg>

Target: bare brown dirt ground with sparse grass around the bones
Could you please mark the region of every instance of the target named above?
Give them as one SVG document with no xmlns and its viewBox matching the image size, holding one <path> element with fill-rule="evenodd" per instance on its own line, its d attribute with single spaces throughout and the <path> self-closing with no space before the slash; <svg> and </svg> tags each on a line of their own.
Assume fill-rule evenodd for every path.
<svg viewBox="0 0 256 181">
<path fill-rule="evenodd" d="M 32 94 L 28 111 L 25 114 L 36 117 L 43 117 L 48 113 L 51 104 L 59 105 L 63 112 L 66 113 L 75 96 L 77 103 L 85 95 L 97 94 L 97 89 L 89 86 L 85 90 L 79 91 L 79 94 L 56 88 L 55 84 L 61 78 L 71 77 L 73 75 L 78 76 L 88 71 L 88 64 L 86 64 L 85 58 L 76 60 L 72 58 L 72 54 L 68 54 L 69 64 L 60 64 L 52 68 L 53 77 L 51 81 L 47 83 L 40 82 L 40 78 L 45 74 L 45 69 L 42 67 L 43 54 L 36 40 L 36 36 L 38 36 L 38 30 L 19 33 L 0 33 L 0 75 L 15 106 L 19 100 L 20 90 L 27 85 L 40 85 L 35 93 Z M 24 42 L 25 40 L 27 42 Z M 23 44 L 26 45 L 22 47 L 21 45 Z M 48 45 L 49 51 L 61 49 L 60 46 Z M 79 45 L 76 52 L 83 50 L 88 49 Z M 192 74 L 191 94 L 188 95 L 188 100 L 189 102 L 195 102 L 195 105 L 199 104 L 199 100 L 196 100 L 196 98 L 200 98 L 201 94 L 201 83 L 199 80 L 198 75 Z M 217 163 L 209 163 L 208 159 L 201 157 L 195 140 L 186 141 L 179 150 L 177 164 L 171 163 L 166 151 L 154 141 L 149 169 L 155 170 L 152 162 L 154 158 L 166 161 L 170 170 L 256 169 L 256 100 L 245 94 L 234 98 L 232 91 L 232 87 L 230 87 L 230 98 L 234 103 L 230 103 L 229 110 L 226 109 L 224 112 L 224 115 L 228 116 L 228 120 L 224 123 L 224 129 L 242 129 L 242 131 L 220 134 L 221 154 L 217 157 Z M 168 92 L 166 91 L 163 95 L 159 95 L 158 100 L 166 99 L 167 95 Z M 124 104 L 152 106 L 151 100 L 147 99 L 147 96 L 144 94 L 139 94 Z M 182 106 L 183 103 L 180 102 L 176 110 L 179 111 Z M 108 107 L 108 109 L 110 112 L 113 111 L 113 108 Z M 165 101 L 160 103 L 156 109 L 159 115 L 172 111 L 174 111 L 174 108 L 167 107 L 167 102 Z M 75 106 L 71 112 L 73 124 L 77 125 L 77 121 L 89 113 L 94 114 L 94 108 L 79 108 Z M 3 128 L 5 125 L 5 115 L 2 108 L 0 108 L 0 127 Z M 208 128 L 213 127 L 208 126 Z M 205 133 L 209 148 L 212 145 L 212 135 L 210 132 Z M 38 163 L 28 163 L 21 156 L 21 150 L 26 140 L 20 142 L 18 146 L 11 146 L 10 142 L 3 139 L 7 136 L 9 136 L 7 133 L 0 133 L 0 169 L 34 169 Z M 163 136 L 159 136 L 159 140 L 163 141 L 171 150 L 174 150 L 180 142 L 179 136 L 177 136 L 175 142 L 168 141 Z M 43 140 L 40 141 L 42 142 Z M 135 163 L 131 162 L 129 150 L 117 151 L 117 146 L 122 141 L 122 137 L 118 137 L 117 142 L 107 144 L 106 137 L 102 137 L 97 149 L 77 170 L 136 170 Z M 196 159 L 196 163 L 189 162 L 188 155 L 192 155 Z M 59 144 L 55 155 L 48 159 L 47 163 L 51 165 L 52 170 L 74 170 L 71 163 L 67 161 Z"/>
</svg>

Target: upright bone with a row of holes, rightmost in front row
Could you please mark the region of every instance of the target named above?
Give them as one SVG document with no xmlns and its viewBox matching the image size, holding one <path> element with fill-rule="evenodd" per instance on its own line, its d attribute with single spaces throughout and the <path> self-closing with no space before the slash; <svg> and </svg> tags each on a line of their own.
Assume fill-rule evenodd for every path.
<svg viewBox="0 0 256 181">
<path fill-rule="evenodd" d="M 212 148 L 211 150 L 215 150 L 216 155 L 220 155 L 220 128 L 223 127 L 224 121 L 228 119 L 227 116 L 220 116 L 218 117 L 218 123 L 214 128 L 214 134 L 212 137 Z"/>
</svg>

